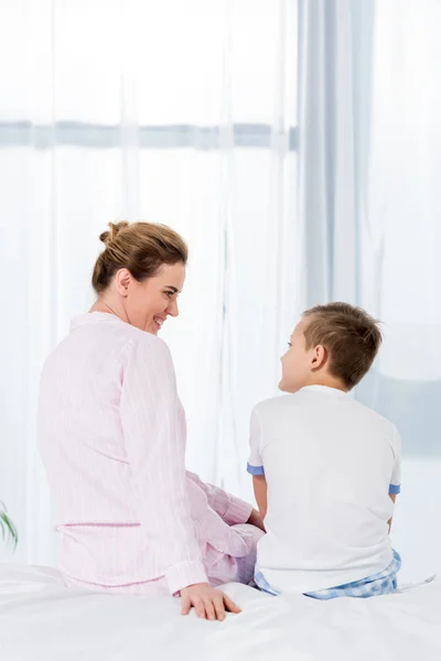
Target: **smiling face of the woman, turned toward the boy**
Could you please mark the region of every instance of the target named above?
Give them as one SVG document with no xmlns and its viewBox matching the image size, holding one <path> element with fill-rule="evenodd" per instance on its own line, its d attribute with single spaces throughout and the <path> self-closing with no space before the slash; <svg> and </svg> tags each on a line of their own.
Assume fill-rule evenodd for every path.
<svg viewBox="0 0 441 661">
<path fill-rule="evenodd" d="M 116 274 L 116 286 L 122 295 L 122 307 L 129 324 L 158 335 L 166 317 L 178 316 L 178 295 L 185 281 L 185 267 L 162 264 L 158 273 L 138 282 L 121 269 Z"/>
</svg>

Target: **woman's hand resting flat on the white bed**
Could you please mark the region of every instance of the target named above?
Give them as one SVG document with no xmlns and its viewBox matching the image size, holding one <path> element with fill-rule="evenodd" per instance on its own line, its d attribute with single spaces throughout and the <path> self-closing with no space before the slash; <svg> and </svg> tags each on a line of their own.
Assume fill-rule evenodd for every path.
<svg viewBox="0 0 441 661">
<path fill-rule="evenodd" d="M 227 595 L 208 583 L 196 583 L 181 589 L 182 615 L 189 615 L 192 607 L 197 617 L 209 620 L 224 620 L 225 611 L 240 613 L 240 608 Z"/>
</svg>

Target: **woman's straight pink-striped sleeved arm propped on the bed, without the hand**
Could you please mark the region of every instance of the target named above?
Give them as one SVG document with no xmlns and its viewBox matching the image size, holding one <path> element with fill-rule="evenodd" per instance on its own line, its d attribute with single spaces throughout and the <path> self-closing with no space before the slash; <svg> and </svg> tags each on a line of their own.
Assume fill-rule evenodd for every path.
<svg viewBox="0 0 441 661">
<path fill-rule="evenodd" d="M 180 424 L 168 346 L 140 338 L 128 347 L 120 415 L 147 553 L 171 594 L 207 583 L 185 486 L 185 429 Z"/>
</svg>

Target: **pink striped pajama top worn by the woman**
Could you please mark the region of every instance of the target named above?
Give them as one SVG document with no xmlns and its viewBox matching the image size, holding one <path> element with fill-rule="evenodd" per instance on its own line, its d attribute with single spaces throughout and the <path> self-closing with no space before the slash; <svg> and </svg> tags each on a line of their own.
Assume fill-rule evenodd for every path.
<svg viewBox="0 0 441 661">
<path fill-rule="evenodd" d="M 174 594 L 207 581 L 207 557 L 248 554 L 232 525 L 251 506 L 185 472 L 185 433 L 166 345 L 112 314 L 74 319 L 44 365 L 39 402 L 66 579 L 161 578 Z"/>
</svg>

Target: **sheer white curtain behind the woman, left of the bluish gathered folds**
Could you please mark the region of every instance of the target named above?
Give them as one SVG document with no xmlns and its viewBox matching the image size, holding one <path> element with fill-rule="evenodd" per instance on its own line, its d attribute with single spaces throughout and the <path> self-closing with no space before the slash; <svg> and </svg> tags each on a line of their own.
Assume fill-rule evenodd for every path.
<svg viewBox="0 0 441 661">
<path fill-rule="evenodd" d="M 39 373 L 94 296 L 109 220 L 190 245 L 166 324 L 189 467 L 250 497 L 251 407 L 293 321 L 297 2 L 0 0 L 0 498 L 17 561 L 54 559 Z M 289 317 L 289 323 L 286 323 Z M 1 553 L 1 551 L 0 551 Z"/>
</svg>

